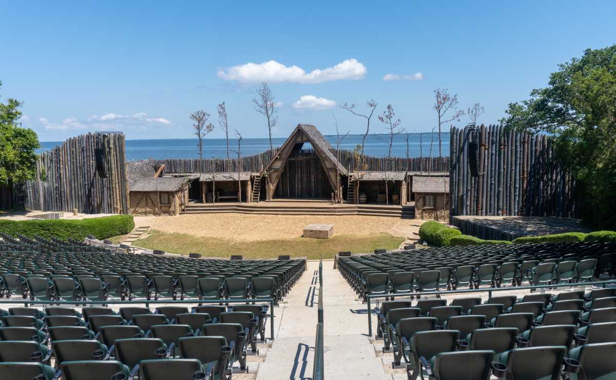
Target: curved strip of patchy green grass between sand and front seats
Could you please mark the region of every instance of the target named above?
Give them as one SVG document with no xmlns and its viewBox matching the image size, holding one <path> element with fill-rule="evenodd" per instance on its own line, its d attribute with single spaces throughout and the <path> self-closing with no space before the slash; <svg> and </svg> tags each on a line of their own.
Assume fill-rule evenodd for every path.
<svg viewBox="0 0 616 380">
<path fill-rule="evenodd" d="M 148 232 L 147 237 L 134 242 L 134 245 L 179 255 L 196 252 L 205 257 L 229 258 L 231 255 L 243 255 L 245 259 L 269 259 L 278 258 L 278 255 L 291 255 L 291 257 L 306 256 L 308 259 L 331 259 L 339 251 L 365 253 L 377 248 L 396 249 L 404 240 L 403 237 L 390 234 L 374 234 L 334 235 L 330 239 L 297 237 L 290 240 L 238 242 L 152 230 Z"/>
</svg>

